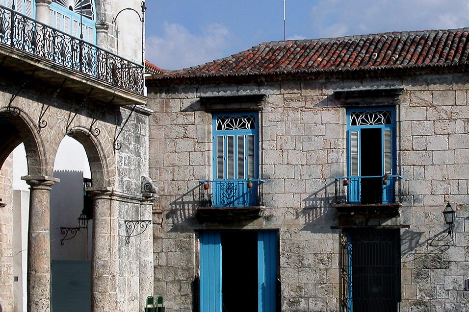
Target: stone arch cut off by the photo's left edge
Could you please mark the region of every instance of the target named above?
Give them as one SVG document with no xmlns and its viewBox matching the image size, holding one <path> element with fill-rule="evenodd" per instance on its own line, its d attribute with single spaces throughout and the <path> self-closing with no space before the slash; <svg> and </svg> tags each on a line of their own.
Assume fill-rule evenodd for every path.
<svg viewBox="0 0 469 312">
<path fill-rule="evenodd" d="M 0 167 L 20 143 L 25 144 L 28 175 L 47 176 L 44 142 L 35 122 L 20 108 L 0 108 Z"/>
</svg>

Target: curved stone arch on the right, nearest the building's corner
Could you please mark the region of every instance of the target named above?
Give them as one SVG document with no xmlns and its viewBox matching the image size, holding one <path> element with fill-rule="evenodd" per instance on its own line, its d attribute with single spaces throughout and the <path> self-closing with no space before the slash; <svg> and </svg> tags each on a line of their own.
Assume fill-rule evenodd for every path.
<svg viewBox="0 0 469 312">
<path fill-rule="evenodd" d="M 89 129 L 80 126 L 72 128 L 67 135 L 83 145 L 90 164 L 93 187 L 110 187 L 112 183 L 110 181 L 108 157 L 106 157 L 101 142 L 95 136 L 90 135 Z"/>
</svg>

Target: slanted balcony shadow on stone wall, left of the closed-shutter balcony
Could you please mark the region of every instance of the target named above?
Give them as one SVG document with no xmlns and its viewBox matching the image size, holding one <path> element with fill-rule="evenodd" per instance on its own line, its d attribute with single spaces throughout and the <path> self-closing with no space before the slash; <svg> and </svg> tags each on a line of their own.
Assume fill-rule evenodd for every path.
<svg viewBox="0 0 469 312">
<path fill-rule="evenodd" d="M 188 218 L 194 218 L 198 203 L 199 186 L 195 186 L 169 204 L 171 210 L 166 214 L 166 219 L 171 219 L 173 224 L 178 224 Z"/>
</svg>

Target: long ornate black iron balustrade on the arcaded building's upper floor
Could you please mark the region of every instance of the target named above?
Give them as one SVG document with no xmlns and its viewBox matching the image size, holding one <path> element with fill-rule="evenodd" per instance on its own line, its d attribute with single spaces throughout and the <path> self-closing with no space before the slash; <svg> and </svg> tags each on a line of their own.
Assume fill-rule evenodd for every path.
<svg viewBox="0 0 469 312">
<path fill-rule="evenodd" d="M 140 64 L 0 5 L 0 44 L 143 94 Z"/>
</svg>

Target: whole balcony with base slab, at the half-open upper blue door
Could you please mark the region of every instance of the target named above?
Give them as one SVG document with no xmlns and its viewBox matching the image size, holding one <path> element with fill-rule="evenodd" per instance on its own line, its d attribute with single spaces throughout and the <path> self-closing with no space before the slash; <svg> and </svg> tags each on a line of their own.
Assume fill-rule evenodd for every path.
<svg viewBox="0 0 469 312">
<path fill-rule="evenodd" d="M 339 213 L 374 210 L 398 214 L 396 190 L 400 175 L 345 176 L 335 179 L 334 204 Z"/>
</svg>

